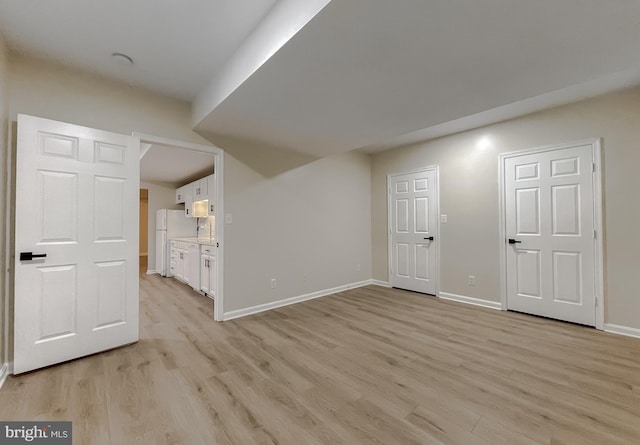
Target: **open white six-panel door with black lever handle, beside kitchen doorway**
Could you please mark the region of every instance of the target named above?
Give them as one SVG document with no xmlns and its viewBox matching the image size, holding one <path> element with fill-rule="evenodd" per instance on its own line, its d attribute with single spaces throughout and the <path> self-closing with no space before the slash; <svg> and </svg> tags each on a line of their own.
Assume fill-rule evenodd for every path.
<svg viewBox="0 0 640 445">
<path fill-rule="evenodd" d="M 138 340 L 138 151 L 18 116 L 15 374 Z"/>
</svg>

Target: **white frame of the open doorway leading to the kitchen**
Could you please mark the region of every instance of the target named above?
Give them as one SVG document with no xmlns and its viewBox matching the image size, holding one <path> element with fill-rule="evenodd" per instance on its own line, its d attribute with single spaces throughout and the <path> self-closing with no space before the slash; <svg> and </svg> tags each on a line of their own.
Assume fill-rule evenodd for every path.
<svg viewBox="0 0 640 445">
<path fill-rule="evenodd" d="M 133 133 L 141 144 L 160 144 L 176 147 L 179 149 L 212 153 L 216 156 L 215 178 L 216 178 L 216 274 L 217 289 L 215 290 L 213 319 L 215 321 L 224 320 L 224 150 L 215 145 L 202 145 L 192 142 L 167 139 L 159 136 L 152 136 L 143 133 Z"/>
</svg>

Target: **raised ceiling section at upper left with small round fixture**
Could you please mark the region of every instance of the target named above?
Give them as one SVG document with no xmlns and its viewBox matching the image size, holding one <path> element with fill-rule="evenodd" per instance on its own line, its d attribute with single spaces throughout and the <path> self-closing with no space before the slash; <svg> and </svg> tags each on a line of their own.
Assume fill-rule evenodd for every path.
<svg viewBox="0 0 640 445">
<path fill-rule="evenodd" d="M 0 31 L 13 50 L 190 101 L 275 3 L 0 0 Z"/>
</svg>

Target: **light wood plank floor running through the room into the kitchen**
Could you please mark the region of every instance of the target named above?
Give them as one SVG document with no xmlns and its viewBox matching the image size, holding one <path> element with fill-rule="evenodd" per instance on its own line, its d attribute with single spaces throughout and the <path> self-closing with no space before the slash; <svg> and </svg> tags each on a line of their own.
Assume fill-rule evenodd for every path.
<svg viewBox="0 0 640 445">
<path fill-rule="evenodd" d="M 215 323 L 141 276 L 141 339 L 19 377 L 75 444 L 640 444 L 640 340 L 376 286 Z"/>
</svg>

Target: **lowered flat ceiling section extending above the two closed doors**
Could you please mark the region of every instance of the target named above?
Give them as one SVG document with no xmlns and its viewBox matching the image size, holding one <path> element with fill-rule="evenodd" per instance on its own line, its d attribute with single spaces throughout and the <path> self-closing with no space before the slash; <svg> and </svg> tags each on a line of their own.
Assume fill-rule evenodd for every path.
<svg viewBox="0 0 640 445">
<path fill-rule="evenodd" d="M 198 129 L 320 156 L 387 148 L 621 71 L 638 82 L 639 48 L 637 0 L 333 0 Z"/>
</svg>

